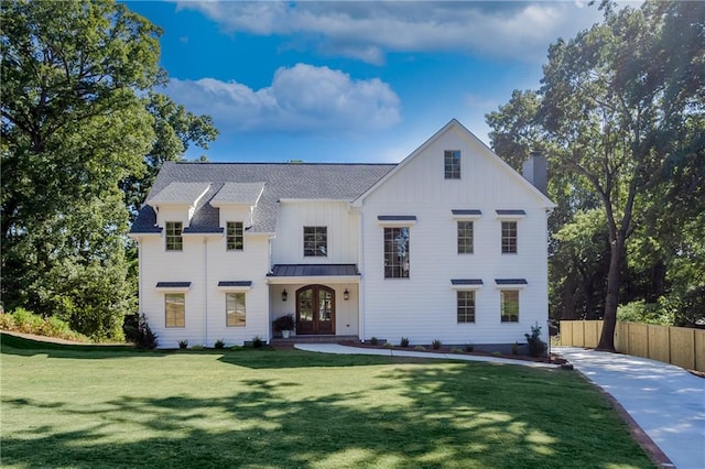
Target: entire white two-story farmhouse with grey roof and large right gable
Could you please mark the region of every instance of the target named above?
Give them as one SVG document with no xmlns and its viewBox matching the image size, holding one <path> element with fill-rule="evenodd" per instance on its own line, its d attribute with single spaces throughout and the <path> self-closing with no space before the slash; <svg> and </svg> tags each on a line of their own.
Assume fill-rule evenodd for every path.
<svg viewBox="0 0 705 469">
<path fill-rule="evenodd" d="M 545 340 L 553 207 L 456 120 L 399 164 L 166 163 L 131 230 L 140 312 L 163 348 L 286 314 L 299 339 Z"/>
</svg>

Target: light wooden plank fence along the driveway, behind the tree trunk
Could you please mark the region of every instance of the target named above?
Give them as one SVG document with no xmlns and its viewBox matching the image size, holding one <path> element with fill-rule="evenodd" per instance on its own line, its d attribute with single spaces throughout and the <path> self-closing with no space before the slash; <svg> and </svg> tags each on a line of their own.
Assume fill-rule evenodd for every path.
<svg viewBox="0 0 705 469">
<path fill-rule="evenodd" d="M 601 320 L 562 320 L 561 345 L 597 347 Z M 618 352 L 665 361 L 687 370 L 705 371 L 705 330 L 617 321 Z"/>
</svg>

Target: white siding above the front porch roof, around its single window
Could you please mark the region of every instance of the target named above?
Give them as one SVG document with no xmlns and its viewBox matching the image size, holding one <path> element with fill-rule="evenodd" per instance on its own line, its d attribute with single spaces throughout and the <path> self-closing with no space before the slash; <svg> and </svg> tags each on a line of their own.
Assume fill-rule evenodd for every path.
<svg viewBox="0 0 705 469">
<path fill-rule="evenodd" d="M 327 257 L 304 257 L 304 227 L 327 227 Z M 347 201 L 281 201 L 272 264 L 356 264 L 357 240 L 357 214 Z"/>
</svg>

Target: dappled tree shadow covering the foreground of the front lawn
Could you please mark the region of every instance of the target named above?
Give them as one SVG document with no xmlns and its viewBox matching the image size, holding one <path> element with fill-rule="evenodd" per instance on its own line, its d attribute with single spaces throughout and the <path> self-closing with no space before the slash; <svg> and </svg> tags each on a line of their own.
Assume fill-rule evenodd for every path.
<svg viewBox="0 0 705 469">
<path fill-rule="evenodd" d="M 619 418 L 598 412 L 609 410 L 607 401 L 577 375 L 557 390 L 556 372 L 517 370 L 510 380 L 501 369 L 390 367 L 377 386 L 346 391 L 340 382 L 313 395 L 291 391 L 302 384 L 290 373 L 248 379 L 247 390 L 227 397 L 122 396 L 95 410 L 7 400 L 6 410 L 56 407 L 57 418 L 84 425 L 6 428 L 2 460 L 76 468 L 651 467 L 626 429 L 615 432 L 623 427 Z M 400 383 L 393 395 L 390 379 Z"/>
</svg>

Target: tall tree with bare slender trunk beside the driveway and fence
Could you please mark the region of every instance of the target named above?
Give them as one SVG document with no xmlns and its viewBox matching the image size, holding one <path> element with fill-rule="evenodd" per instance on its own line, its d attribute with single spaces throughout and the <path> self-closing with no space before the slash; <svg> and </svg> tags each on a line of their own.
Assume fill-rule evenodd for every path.
<svg viewBox="0 0 705 469">
<path fill-rule="evenodd" d="M 679 144 L 702 123 L 705 96 L 705 4 L 611 7 L 603 3 L 603 23 L 550 47 L 540 112 L 547 138 L 563 150 L 555 162 L 588 181 L 605 210 L 610 262 L 598 345 L 605 350 L 614 350 L 636 201 L 666 179 Z"/>
</svg>

